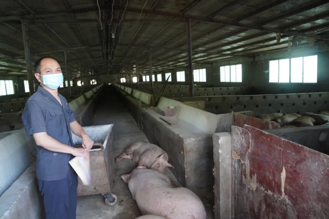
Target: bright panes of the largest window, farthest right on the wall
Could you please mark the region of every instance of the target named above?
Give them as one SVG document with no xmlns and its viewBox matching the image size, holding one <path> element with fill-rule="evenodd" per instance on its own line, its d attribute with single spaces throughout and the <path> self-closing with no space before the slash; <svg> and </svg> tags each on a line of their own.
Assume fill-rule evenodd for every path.
<svg viewBox="0 0 329 219">
<path fill-rule="evenodd" d="M 271 83 L 316 83 L 317 55 L 269 61 Z"/>
</svg>

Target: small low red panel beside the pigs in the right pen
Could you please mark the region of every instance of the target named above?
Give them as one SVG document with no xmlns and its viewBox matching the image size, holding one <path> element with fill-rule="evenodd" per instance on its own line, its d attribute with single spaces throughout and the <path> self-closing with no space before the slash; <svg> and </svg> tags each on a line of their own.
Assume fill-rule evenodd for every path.
<svg viewBox="0 0 329 219">
<path fill-rule="evenodd" d="M 274 121 L 263 121 L 262 119 L 246 116 L 239 113 L 233 114 L 233 125 L 243 127 L 244 124 L 251 125 L 255 128 L 266 130 L 266 129 L 278 129 L 280 124 Z"/>
</svg>

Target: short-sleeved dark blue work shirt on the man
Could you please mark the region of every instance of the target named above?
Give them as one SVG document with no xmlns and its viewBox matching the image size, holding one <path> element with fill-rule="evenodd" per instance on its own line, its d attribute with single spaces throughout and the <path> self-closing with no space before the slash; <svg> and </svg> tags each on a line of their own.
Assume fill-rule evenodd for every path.
<svg viewBox="0 0 329 219">
<path fill-rule="evenodd" d="M 27 100 L 22 114 L 26 134 L 46 132 L 61 143 L 74 146 L 70 123 L 75 121 L 75 116 L 67 100 L 60 94 L 58 96 L 62 106 L 39 86 L 38 91 Z M 72 168 L 68 162 L 74 158 L 73 155 L 50 151 L 38 145 L 37 154 L 36 176 L 39 180 L 60 180 L 71 174 Z"/>
</svg>

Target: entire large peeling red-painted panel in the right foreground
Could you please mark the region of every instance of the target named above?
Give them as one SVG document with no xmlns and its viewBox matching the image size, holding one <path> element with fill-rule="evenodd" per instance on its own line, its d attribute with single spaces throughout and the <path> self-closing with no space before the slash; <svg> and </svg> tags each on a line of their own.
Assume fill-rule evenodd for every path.
<svg viewBox="0 0 329 219">
<path fill-rule="evenodd" d="M 232 126 L 232 151 L 236 218 L 329 218 L 328 155 L 249 125 Z"/>
</svg>

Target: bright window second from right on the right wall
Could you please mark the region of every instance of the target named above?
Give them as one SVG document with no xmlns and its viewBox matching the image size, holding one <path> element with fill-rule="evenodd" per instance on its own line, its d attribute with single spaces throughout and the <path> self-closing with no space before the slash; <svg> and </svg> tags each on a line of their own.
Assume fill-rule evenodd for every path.
<svg viewBox="0 0 329 219">
<path fill-rule="evenodd" d="M 220 67 L 221 82 L 242 82 L 242 65 L 227 65 Z"/>
</svg>

